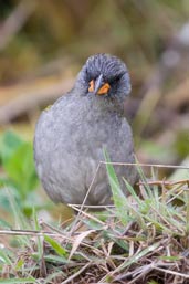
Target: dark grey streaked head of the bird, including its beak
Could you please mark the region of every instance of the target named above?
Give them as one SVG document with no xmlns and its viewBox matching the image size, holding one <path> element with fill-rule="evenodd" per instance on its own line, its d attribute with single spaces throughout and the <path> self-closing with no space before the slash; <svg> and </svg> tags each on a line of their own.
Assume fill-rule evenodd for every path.
<svg viewBox="0 0 189 284">
<path fill-rule="evenodd" d="M 87 59 L 77 76 L 83 95 L 116 97 L 123 101 L 130 93 L 130 78 L 123 61 L 108 54 Z"/>
</svg>

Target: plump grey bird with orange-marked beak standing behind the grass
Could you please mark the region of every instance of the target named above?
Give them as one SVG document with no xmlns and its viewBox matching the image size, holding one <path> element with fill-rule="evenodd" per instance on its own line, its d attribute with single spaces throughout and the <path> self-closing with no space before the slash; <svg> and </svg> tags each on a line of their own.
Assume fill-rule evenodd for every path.
<svg viewBox="0 0 189 284">
<path fill-rule="evenodd" d="M 104 149 L 113 162 L 135 162 L 133 132 L 124 115 L 130 88 L 125 63 L 98 53 L 86 60 L 73 88 L 42 112 L 34 133 L 34 161 L 55 203 L 82 204 L 85 199 L 85 206 L 113 204 L 106 167 L 96 169 L 105 160 Z M 128 196 L 123 177 L 135 185 L 136 168 L 115 166 L 115 171 Z"/>
</svg>

